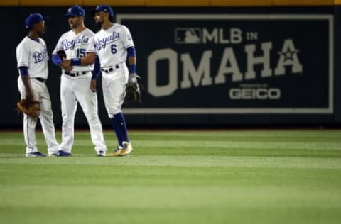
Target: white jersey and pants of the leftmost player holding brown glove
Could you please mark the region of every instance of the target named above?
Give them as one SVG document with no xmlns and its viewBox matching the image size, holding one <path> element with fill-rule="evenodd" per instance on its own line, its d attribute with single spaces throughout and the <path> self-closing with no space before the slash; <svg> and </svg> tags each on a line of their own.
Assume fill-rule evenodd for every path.
<svg viewBox="0 0 341 224">
<path fill-rule="evenodd" d="M 59 145 L 55 139 L 55 126 L 53 125 L 53 112 L 51 108 L 50 94 L 45 85 L 48 79 L 48 50 L 42 38 L 32 40 L 27 36 L 16 47 L 16 59 L 18 67 L 28 67 L 28 77 L 31 84 L 33 98 L 40 102 L 40 123 L 48 145 L 48 154 L 58 152 Z M 38 80 L 39 79 L 39 80 Z M 18 90 L 21 99 L 26 98 L 26 89 L 21 77 L 18 77 Z M 23 115 L 23 135 L 26 142 L 26 154 L 38 152 L 36 141 L 37 118 Z"/>
</svg>

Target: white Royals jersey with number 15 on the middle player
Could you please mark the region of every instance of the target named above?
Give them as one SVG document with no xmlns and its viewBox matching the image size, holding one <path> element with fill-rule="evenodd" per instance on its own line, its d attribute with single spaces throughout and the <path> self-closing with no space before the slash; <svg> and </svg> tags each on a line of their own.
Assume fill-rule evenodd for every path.
<svg viewBox="0 0 341 224">
<path fill-rule="evenodd" d="M 57 55 L 58 50 L 64 50 L 67 59 L 84 57 L 87 52 L 95 52 L 94 33 L 89 29 L 85 29 L 76 35 L 73 30 L 70 30 L 59 38 L 52 54 Z M 92 71 L 94 64 L 72 67 L 72 72 Z"/>
</svg>

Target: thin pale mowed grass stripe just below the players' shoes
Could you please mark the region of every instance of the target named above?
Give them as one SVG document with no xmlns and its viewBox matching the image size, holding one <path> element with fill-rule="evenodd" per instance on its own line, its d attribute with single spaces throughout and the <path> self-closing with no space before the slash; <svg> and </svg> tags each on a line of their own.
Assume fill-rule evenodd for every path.
<svg viewBox="0 0 341 224">
<path fill-rule="evenodd" d="M 166 166 L 166 167 L 274 167 L 301 169 L 341 169 L 341 158 L 316 157 L 229 157 L 229 156 L 186 156 L 186 155 L 131 155 L 130 157 L 96 158 L 89 155 L 58 158 L 25 158 L 12 155 L 4 158 L 0 154 L 0 164 L 74 164 L 113 166 Z"/>
</svg>

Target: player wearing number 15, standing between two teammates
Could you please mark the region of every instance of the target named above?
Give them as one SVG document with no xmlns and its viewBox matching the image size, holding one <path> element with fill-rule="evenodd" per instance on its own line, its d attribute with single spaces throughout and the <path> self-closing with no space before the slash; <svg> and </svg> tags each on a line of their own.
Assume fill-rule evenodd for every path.
<svg viewBox="0 0 341 224">
<path fill-rule="evenodd" d="M 91 140 L 97 156 L 105 156 L 107 146 L 104 142 L 102 124 L 97 112 L 96 79 L 92 75 L 96 58 L 94 33 L 85 27 L 85 11 L 80 6 L 71 6 L 67 14 L 71 30 L 64 33 L 53 50 L 53 62 L 62 68 L 60 81 L 60 101 L 62 106 L 62 143 L 60 149 L 71 155 L 74 140 L 74 121 L 77 103 L 90 126 Z M 63 50 L 65 60 L 57 53 Z M 80 60 L 82 57 L 82 60 Z"/>
</svg>

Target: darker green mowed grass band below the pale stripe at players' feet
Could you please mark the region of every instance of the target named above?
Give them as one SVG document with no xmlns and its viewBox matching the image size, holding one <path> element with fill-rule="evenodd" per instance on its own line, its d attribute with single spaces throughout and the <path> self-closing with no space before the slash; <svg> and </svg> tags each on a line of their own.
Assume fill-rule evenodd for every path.
<svg viewBox="0 0 341 224">
<path fill-rule="evenodd" d="M 44 168 L 44 169 L 42 169 Z M 340 169 L 297 167 L 167 167 L 132 165 L 1 165 L 1 185 L 11 186 L 211 186 L 298 187 L 340 194 Z M 9 174 L 10 173 L 10 174 Z M 18 178 L 20 177 L 20 178 Z M 1 189 L 1 192 L 4 189 Z M 2 193 L 1 193 L 2 194 Z M 341 196 L 341 195 L 340 195 Z M 341 203 L 341 201 L 340 201 Z M 341 204 L 340 204 L 341 206 Z"/>
</svg>

